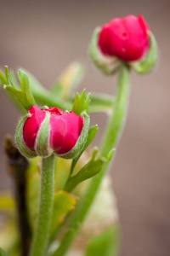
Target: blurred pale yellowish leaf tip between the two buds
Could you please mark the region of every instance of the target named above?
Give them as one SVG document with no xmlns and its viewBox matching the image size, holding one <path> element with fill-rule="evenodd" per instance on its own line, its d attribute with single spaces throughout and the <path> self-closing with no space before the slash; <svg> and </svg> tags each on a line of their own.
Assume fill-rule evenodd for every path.
<svg viewBox="0 0 170 256">
<path fill-rule="evenodd" d="M 71 92 L 77 88 L 82 81 L 83 67 L 78 62 L 73 62 L 66 68 L 64 73 L 61 74 L 59 82 L 54 85 L 52 91 L 64 101 L 67 101 Z"/>
</svg>

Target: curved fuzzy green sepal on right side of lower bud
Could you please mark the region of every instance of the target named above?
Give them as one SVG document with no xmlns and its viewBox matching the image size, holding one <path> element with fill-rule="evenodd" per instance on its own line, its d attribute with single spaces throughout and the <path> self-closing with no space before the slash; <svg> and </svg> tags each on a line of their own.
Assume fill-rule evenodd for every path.
<svg viewBox="0 0 170 256">
<path fill-rule="evenodd" d="M 80 134 L 80 137 L 78 138 L 78 141 L 74 148 L 71 148 L 71 150 L 65 154 L 57 154 L 59 157 L 65 158 L 65 159 L 72 159 L 79 154 L 79 152 L 82 150 L 84 147 L 84 144 L 87 141 L 88 138 L 88 129 L 89 129 L 89 124 L 90 124 L 90 118 L 88 116 L 88 113 L 83 112 L 82 113 L 82 118 L 84 119 L 84 124 L 82 128 L 82 132 Z"/>
</svg>

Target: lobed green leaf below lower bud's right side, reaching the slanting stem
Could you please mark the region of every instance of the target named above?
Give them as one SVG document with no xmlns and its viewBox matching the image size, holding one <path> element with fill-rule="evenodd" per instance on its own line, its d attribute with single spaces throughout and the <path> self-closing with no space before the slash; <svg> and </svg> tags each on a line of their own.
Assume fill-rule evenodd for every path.
<svg viewBox="0 0 170 256">
<path fill-rule="evenodd" d="M 76 175 L 69 177 L 67 183 L 65 184 L 65 190 L 68 192 L 71 192 L 72 189 L 77 187 L 79 183 L 82 183 L 82 181 L 94 177 L 94 175 L 98 174 L 105 162 L 105 158 L 98 158 L 95 160 L 96 154 L 98 153 L 98 149 L 94 148 L 94 153 L 91 158 L 91 160 L 88 161 L 88 163 L 82 167 L 82 169 L 77 172 Z"/>
</svg>

